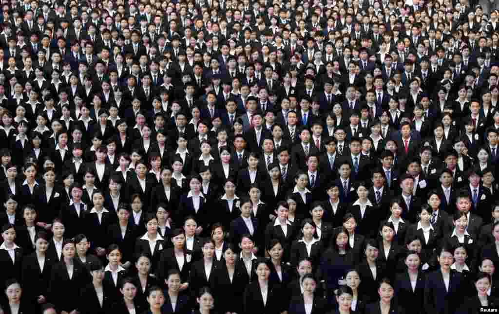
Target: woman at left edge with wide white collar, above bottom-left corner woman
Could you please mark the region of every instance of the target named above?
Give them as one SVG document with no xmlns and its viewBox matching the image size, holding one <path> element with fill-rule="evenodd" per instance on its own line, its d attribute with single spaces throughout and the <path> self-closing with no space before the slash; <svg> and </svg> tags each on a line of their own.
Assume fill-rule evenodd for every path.
<svg viewBox="0 0 499 314">
<path fill-rule="evenodd" d="M 4 224 L 1 231 L 3 243 L 0 246 L 0 269 L 2 270 L 0 278 L 2 282 L 10 278 L 20 280 L 24 250 L 14 243 L 15 229 L 13 225 Z M 13 253 L 13 256 L 10 255 L 9 251 Z"/>
</svg>

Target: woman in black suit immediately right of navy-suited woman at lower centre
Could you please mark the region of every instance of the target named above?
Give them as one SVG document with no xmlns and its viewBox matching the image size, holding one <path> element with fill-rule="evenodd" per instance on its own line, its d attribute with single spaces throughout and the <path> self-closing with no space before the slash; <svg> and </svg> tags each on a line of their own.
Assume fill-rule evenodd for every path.
<svg viewBox="0 0 499 314">
<path fill-rule="evenodd" d="M 277 218 L 275 221 L 269 222 L 265 228 L 265 247 L 270 245 L 271 240 L 278 239 L 284 250 L 283 260 L 286 262 L 289 260 L 291 244 L 297 233 L 296 227 L 287 220 L 288 213 L 289 205 L 284 201 L 279 202 L 275 210 Z"/>
</svg>

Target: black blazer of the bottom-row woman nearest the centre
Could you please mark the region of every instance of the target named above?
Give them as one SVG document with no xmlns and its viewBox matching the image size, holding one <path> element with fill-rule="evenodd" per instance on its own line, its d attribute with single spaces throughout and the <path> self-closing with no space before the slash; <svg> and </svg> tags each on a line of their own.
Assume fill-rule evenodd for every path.
<svg viewBox="0 0 499 314">
<path fill-rule="evenodd" d="M 243 307 L 245 314 L 279 314 L 285 311 L 286 304 L 282 302 L 282 290 L 280 285 L 271 285 L 269 283 L 267 290 L 267 302 L 264 304 L 261 296 L 260 285 L 258 281 L 250 283 L 246 287 Z"/>
</svg>

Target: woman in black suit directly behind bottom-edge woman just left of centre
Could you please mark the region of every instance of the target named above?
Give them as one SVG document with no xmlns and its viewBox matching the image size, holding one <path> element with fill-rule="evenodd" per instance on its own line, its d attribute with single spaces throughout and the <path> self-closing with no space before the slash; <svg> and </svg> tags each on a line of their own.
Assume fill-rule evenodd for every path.
<svg viewBox="0 0 499 314">
<path fill-rule="evenodd" d="M 215 272 L 219 268 L 219 262 L 214 258 L 215 241 L 210 238 L 205 239 L 202 242 L 201 250 L 203 258 L 195 261 L 191 266 L 189 288 L 192 292 L 203 287 L 213 288 L 215 285 Z"/>
</svg>

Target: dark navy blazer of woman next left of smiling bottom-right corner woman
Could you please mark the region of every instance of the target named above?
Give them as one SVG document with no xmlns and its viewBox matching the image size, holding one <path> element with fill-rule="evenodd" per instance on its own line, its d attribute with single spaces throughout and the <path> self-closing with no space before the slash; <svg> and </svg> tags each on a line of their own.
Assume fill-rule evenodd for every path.
<svg viewBox="0 0 499 314">
<path fill-rule="evenodd" d="M 427 314 L 452 314 L 463 303 L 463 275 L 451 270 L 449 290 L 445 288 L 440 270 L 428 274 L 425 283 L 424 305 Z"/>
</svg>

